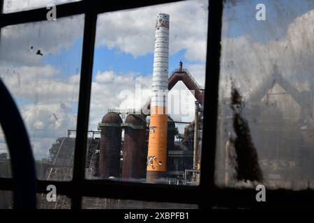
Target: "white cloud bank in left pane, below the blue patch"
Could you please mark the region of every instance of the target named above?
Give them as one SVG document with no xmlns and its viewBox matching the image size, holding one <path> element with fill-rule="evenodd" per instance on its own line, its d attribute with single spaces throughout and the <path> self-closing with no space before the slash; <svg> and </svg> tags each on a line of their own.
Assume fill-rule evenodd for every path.
<svg viewBox="0 0 314 223">
<path fill-rule="evenodd" d="M 0 66 L 0 77 L 17 102 L 35 157 L 47 157 L 57 137 L 76 128 L 80 75 L 66 77 L 49 65 Z"/>
</svg>

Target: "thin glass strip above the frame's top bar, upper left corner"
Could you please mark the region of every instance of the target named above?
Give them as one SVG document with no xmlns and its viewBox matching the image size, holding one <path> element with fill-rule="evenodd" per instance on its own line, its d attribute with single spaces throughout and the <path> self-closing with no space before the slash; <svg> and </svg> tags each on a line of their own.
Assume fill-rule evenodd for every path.
<svg viewBox="0 0 314 223">
<path fill-rule="evenodd" d="M 81 0 L 3 0 L 3 13 L 15 13 L 34 8 L 45 8 L 51 6 L 51 4 L 57 6 L 73 1 Z M 49 10 L 51 10 L 51 8 L 47 9 L 47 13 Z"/>
</svg>

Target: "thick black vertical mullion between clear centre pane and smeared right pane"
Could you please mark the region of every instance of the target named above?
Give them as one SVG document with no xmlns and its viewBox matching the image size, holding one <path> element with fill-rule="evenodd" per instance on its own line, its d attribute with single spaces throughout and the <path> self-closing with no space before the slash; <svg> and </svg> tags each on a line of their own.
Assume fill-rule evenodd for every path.
<svg viewBox="0 0 314 223">
<path fill-rule="evenodd" d="M 214 191 L 215 155 L 216 155 L 216 123 L 218 108 L 218 83 L 220 70 L 221 20 L 223 15 L 222 1 L 209 1 L 207 63 L 204 101 L 204 128 L 201 157 L 200 189 L 202 197 L 200 208 L 209 205 L 210 194 Z M 205 196 L 205 194 L 207 194 Z M 209 197 L 207 197 L 209 196 Z"/>
</svg>

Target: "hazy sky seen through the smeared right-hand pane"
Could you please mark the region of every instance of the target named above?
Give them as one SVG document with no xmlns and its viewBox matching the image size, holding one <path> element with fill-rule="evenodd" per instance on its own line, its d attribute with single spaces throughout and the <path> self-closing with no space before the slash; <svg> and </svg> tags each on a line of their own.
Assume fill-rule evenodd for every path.
<svg viewBox="0 0 314 223">
<path fill-rule="evenodd" d="M 264 3 L 266 21 L 255 19 L 257 3 Z M 311 0 L 228 0 L 223 13 L 220 91 L 230 89 L 232 78 L 249 95 L 272 75 L 274 64 L 299 91 L 311 89 L 313 8 Z"/>
</svg>

